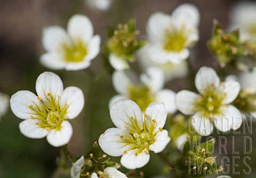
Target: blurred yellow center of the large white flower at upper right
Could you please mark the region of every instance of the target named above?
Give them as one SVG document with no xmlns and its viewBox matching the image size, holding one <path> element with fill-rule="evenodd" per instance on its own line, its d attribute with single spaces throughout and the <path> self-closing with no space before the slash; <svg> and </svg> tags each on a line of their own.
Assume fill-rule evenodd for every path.
<svg viewBox="0 0 256 178">
<path fill-rule="evenodd" d="M 185 28 L 165 31 L 164 48 L 167 51 L 180 52 L 185 47 L 187 36 Z"/>
</svg>

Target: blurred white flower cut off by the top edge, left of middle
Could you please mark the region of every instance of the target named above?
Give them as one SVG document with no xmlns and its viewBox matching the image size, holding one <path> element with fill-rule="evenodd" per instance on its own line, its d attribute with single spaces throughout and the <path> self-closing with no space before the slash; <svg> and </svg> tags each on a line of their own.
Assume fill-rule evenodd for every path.
<svg viewBox="0 0 256 178">
<path fill-rule="evenodd" d="M 85 0 L 85 3 L 91 9 L 108 11 L 113 3 L 113 0 Z"/>
</svg>

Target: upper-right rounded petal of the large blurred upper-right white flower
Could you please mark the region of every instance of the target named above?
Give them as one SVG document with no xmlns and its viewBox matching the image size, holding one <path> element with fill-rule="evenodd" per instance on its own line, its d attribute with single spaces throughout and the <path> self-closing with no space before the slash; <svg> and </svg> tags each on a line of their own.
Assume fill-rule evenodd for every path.
<svg viewBox="0 0 256 178">
<path fill-rule="evenodd" d="M 172 17 L 178 18 L 180 15 L 186 16 L 186 21 L 193 22 L 195 26 L 199 25 L 200 14 L 197 7 L 193 4 L 183 3 L 178 6 L 172 13 Z"/>
</svg>

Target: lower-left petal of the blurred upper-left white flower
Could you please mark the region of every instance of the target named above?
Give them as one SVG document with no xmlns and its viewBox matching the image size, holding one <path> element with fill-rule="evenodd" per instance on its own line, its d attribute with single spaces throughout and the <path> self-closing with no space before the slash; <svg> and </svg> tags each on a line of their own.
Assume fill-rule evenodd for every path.
<svg viewBox="0 0 256 178">
<path fill-rule="evenodd" d="M 45 53 L 40 56 L 40 62 L 49 69 L 63 69 L 66 66 L 63 55 L 57 52 Z"/>
</svg>

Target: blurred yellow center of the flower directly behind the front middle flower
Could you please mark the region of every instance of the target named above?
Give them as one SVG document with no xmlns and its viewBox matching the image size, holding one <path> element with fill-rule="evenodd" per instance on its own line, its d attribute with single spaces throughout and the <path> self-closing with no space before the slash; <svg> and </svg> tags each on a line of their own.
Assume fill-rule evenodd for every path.
<svg viewBox="0 0 256 178">
<path fill-rule="evenodd" d="M 154 101 L 153 94 L 149 91 L 147 87 L 130 87 L 129 99 L 137 103 L 141 108 L 142 112 L 146 111 L 148 105 Z"/>
</svg>

